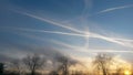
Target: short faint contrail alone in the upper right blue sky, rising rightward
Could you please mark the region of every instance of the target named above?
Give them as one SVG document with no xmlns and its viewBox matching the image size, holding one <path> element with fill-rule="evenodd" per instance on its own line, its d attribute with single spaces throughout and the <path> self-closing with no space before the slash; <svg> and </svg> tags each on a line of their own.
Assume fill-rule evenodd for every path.
<svg viewBox="0 0 133 75">
<path fill-rule="evenodd" d="M 105 13 L 105 12 L 111 12 L 111 11 L 120 10 L 120 9 L 125 9 L 125 8 L 132 8 L 132 7 L 133 7 L 133 4 L 122 6 L 122 7 L 115 7 L 115 8 L 109 8 L 109 9 L 105 9 L 105 10 L 102 10 L 102 11 L 98 12 L 96 14 Z"/>
</svg>

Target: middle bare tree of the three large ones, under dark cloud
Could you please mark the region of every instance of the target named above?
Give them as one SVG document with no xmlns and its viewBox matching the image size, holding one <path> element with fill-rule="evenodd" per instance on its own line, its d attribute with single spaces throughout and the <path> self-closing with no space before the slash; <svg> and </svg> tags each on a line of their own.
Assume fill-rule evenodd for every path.
<svg viewBox="0 0 133 75">
<path fill-rule="evenodd" d="M 62 75 L 69 75 L 69 67 L 78 63 L 78 61 L 64 55 L 58 55 L 57 61 L 60 63 L 58 71 L 62 72 Z"/>
</svg>

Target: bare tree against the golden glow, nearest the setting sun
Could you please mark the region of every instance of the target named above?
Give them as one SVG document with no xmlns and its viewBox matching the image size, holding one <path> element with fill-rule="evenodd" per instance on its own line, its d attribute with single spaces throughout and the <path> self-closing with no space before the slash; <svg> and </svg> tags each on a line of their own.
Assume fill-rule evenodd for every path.
<svg viewBox="0 0 133 75">
<path fill-rule="evenodd" d="M 95 60 L 93 61 L 93 64 L 96 66 L 98 69 L 102 71 L 103 75 L 109 75 L 108 68 L 109 68 L 112 61 L 113 61 L 112 55 L 100 53 L 95 56 Z"/>
</svg>

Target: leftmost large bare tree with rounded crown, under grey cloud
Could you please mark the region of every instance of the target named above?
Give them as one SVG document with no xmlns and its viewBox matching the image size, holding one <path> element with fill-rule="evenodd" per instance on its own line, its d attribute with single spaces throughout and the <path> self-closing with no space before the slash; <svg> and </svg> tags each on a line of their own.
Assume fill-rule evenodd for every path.
<svg viewBox="0 0 133 75">
<path fill-rule="evenodd" d="M 30 71 L 30 74 L 35 75 L 35 72 L 44 65 L 45 60 L 38 54 L 33 54 L 24 57 L 23 63 Z"/>
</svg>

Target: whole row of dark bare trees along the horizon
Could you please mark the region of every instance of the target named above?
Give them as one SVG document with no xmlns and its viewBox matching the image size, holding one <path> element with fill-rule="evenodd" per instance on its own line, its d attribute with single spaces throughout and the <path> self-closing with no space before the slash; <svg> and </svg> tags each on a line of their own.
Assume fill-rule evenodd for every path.
<svg viewBox="0 0 133 75">
<path fill-rule="evenodd" d="M 70 69 L 71 66 L 83 64 L 69 56 L 57 55 L 51 61 L 47 60 L 44 55 L 32 54 L 21 60 L 0 63 L 0 75 L 125 75 L 125 68 L 119 67 L 121 63 L 119 65 L 116 63 L 117 61 L 114 60 L 112 54 L 100 53 L 93 58 L 92 65 L 90 65 L 92 66 L 92 72 L 84 73 L 80 68 L 75 71 Z M 115 66 L 114 71 L 111 71 L 112 65 Z M 132 75 L 132 71 L 129 74 Z"/>
</svg>

